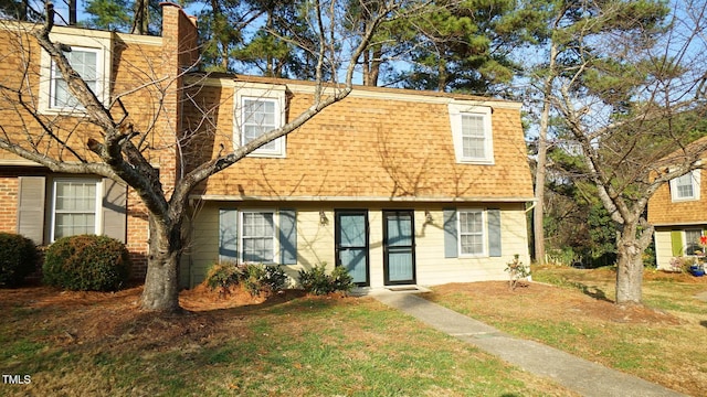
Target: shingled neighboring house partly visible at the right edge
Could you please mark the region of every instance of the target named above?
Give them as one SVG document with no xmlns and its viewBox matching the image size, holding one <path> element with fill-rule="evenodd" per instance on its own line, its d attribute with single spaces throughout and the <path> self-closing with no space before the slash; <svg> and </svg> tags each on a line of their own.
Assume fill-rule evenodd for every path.
<svg viewBox="0 0 707 397">
<path fill-rule="evenodd" d="M 704 142 L 703 138 L 699 142 Z M 671 269 L 671 259 L 695 257 L 705 250 L 707 236 L 707 181 L 697 169 L 661 186 L 648 201 L 648 223 L 655 226 L 655 260 Z M 700 251 L 700 253 L 696 253 Z"/>
</svg>

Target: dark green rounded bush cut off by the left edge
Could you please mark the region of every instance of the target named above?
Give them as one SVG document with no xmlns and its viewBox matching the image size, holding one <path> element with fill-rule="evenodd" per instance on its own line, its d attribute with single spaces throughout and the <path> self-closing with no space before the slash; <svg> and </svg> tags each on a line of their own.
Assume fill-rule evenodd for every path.
<svg viewBox="0 0 707 397">
<path fill-rule="evenodd" d="M 17 287 L 36 267 L 34 243 L 18 234 L 0 233 L 0 287 Z"/>
</svg>

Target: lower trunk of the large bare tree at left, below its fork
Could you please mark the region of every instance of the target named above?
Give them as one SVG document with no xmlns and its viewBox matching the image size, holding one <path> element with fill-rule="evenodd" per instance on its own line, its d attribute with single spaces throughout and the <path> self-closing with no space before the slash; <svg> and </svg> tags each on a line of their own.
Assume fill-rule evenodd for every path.
<svg viewBox="0 0 707 397">
<path fill-rule="evenodd" d="M 177 312 L 179 307 L 179 261 L 181 227 L 150 221 L 150 247 L 141 308 Z"/>
</svg>

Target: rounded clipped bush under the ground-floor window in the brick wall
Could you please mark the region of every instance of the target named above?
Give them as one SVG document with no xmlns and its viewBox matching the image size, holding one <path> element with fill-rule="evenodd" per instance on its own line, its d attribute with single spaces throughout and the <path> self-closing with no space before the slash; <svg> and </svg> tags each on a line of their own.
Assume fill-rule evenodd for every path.
<svg viewBox="0 0 707 397">
<path fill-rule="evenodd" d="M 44 258 L 44 283 L 74 291 L 116 291 L 128 281 L 130 259 L 125 245 L 95 235 L 63 237 Z"/>
</svg>

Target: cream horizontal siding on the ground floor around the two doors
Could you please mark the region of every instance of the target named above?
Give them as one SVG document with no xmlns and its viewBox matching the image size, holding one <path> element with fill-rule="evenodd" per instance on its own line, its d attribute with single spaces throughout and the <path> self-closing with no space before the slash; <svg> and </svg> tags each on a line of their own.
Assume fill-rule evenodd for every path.
<svg viewBox="0 0 707 397">
<path fill-rule="evenodd" d="M 443 207 L 449 205 L 404 205 L 397 203 L 390 206 L 377 204 L 368 208 L 369 221 L 369 264 L 370 285 L 372 288 L 383 287 L 383 210 L 414 210 L 415 223 L 415 270 L 416 281 L 421 286 L 434 286 L 449 282 L 471 282 L 484 280 L 506 280 L 508 275 L 504 269 L 513 260 L 514 255 L 520 255 L 524 264 L 529 264 L 528 235 L 526 213 L 523 204 L 504 204 L 500 206 L 502 219 L 502 257 L 479 258 L 445 258 Z M 484 207 L 483 205 L 469 205 Z M 193 239 L 183 256 L 181 282 L 193 286 L 203 280 L 209 267 L 219 256 L 219 208 L 249 207 L 258 208 L 295 208 L 297 211 L 297 265 L 285 266 L 286 272 L 293 281 L 299 269 L 326 262 L 328 269 L 335 266 L 335 208 L 363 208 L 361 203 L 342 203 L 326 205 L 317 203 L 258 203 L 246 205 L 243 203 L 209 202 L 198 212 L 192 224 Z M 460 206 L 463 208 L 464 206 Z M 430 212 L 432 222 L 426 222 L 425 211 Z M 320 212 L 324 212 L 327 223 L 321 224 Z M 669 234 L 668 234 L 669 243 Z M 669 244 L 668 244 L 669 247 Z M 277 255 L 276 258 L 279 256 Z"/>
</svg>

